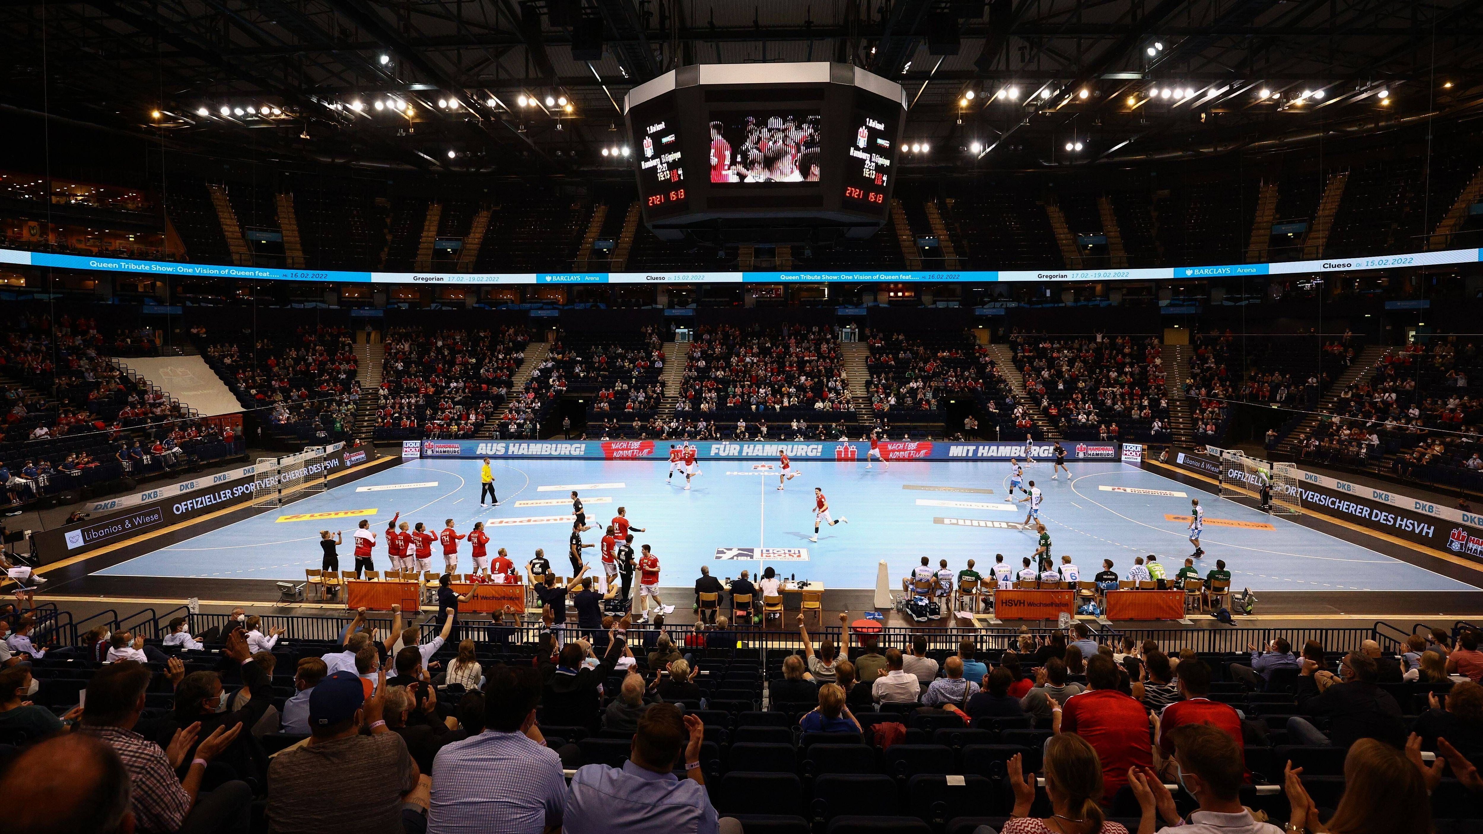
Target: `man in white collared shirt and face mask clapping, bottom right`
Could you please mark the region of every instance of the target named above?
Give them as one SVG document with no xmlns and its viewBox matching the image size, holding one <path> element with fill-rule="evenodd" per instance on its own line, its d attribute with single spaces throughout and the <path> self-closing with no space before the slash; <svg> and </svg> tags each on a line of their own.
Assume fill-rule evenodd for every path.
<svg viewBox="0 0 1483 834">
<path fill-rule="evenodd" d="M 1152 834 L 1155 816 L 1164 819 L 1160 834 L 1283 834 L 1269 822 L 1258 822 L 1241 806 L 1241 745 L 1223 730 L 1189 724 L 1172 730 L 1178 782 L 1200 803 L 1182 818 L 1175 797 L 1149 767 L 1129 767 L 1127 784 L 1142 809 L 1139 834 Z"/>
</svg>

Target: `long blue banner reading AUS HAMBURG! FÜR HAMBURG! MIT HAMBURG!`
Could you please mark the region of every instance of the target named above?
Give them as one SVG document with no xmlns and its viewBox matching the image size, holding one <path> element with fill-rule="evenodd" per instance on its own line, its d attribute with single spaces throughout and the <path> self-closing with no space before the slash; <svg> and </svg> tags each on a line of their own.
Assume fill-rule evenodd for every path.
<svg viewBox="0 0 1483 834">
<path fill-rule="evenodd" d="M 423 458 L 571 458 L 586 461 L 667 461 L 669 440 L 424 440 Z M 854 440 L 761 441 L 707 440 L 696 443 L 701 461 L 777 459 L 865 461 L 871 444 Z M 1035 459 L 1053 459 L 1054 444 L 1032 443 Z M 1068 461 L 1120 461 L 1117 443 L 1065 441 Z M 1008 461 L 1026 459 L 1025 443 L 949 443 L 945 440 L 882 440 L 887 461 Z"/>
</svg>

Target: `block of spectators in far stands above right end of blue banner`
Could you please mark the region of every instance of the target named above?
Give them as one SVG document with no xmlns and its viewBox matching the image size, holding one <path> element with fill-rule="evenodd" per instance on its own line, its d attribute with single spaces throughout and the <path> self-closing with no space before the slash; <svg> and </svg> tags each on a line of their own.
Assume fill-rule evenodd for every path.
<svg viewBox="0 0 1483 834">
<path fill-rule="evenodd" d="M 1026 394 L 1063 437 L 1169 438 L 1169 393 L 1157 338 L 1011 332 L 1010 344 Z"/>
</svg>

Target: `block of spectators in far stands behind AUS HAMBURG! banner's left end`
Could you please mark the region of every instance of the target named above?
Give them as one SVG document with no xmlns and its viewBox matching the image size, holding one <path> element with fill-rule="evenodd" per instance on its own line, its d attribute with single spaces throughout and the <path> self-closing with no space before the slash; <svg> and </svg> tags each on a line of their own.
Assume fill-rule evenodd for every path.
<svg viewBox="0 0 1483 834">
<path fill-rule="evenodd" d="M 525 327 L 393 327 L 375 409 L 377 440 L 469 438 L 498 418 L 525 360 Z"/>
</svg>

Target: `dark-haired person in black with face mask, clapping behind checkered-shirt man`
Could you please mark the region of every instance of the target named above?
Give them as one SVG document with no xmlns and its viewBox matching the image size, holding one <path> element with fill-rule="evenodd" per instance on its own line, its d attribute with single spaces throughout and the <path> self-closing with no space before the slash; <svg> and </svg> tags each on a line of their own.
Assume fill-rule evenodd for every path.
<svg viewBox="0 0 1483 834">
<path fill-rule="evenodd" d="M 217 727 L 231 729 L 242 724 L 242 736 L 262 718 L 268 707 L 273 705 L 273 678 L 262 667 L 252 661 L 248 650 L 248 638 L 242 630 L 227 635 L 227 643 L 221 650 L 221 671 L 202 671 L 185 675 L 175 687 L 175 721 L 187 726 L 200 723 L 200 738 L 206 738 Z M 231 670 L 237 673 L 233 674 Z M 221 684 L 222 675 L 240 675 L 243 687 L 251 698 L 240 710 L 228 710 L 228 698 Z M 221 751 L 221 761 L 236 769 L 239 776 L 255 778 L 258 784 L 267 776 L 267 758 L 262 748 L 251 744 L 248 738 L 237 738 Z"/>
</svg>

